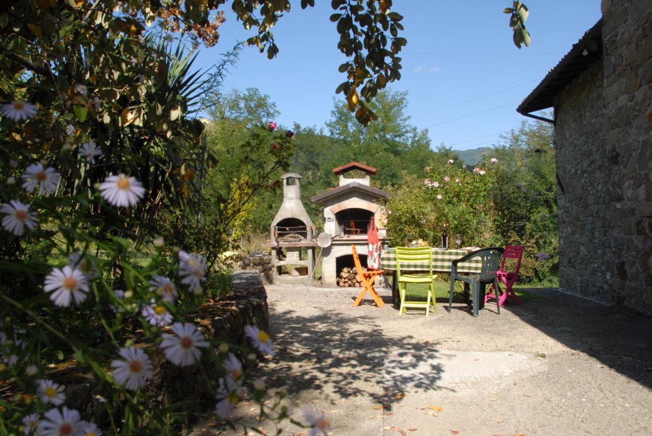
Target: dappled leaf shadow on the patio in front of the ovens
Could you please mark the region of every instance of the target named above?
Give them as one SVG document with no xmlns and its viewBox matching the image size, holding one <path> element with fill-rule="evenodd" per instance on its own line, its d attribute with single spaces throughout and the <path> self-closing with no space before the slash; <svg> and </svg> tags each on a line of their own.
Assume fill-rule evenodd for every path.
<svg viewBox="0 0 652 436">
<path fill-rule="evenodd" d="M 433 363 L 436 343 L 422 344 L 409 334 L 385 336 L 377 320 L 364 316 L 300 316 L 286 310 L 274 318 L 283 321 L 271 325 L 277 346 L 272 387 L 290 394 L 323 390 L 339 398 L 368 396 L 385 409 L 408 386 L 439 388 L 441 366 Z"/>
</svg>

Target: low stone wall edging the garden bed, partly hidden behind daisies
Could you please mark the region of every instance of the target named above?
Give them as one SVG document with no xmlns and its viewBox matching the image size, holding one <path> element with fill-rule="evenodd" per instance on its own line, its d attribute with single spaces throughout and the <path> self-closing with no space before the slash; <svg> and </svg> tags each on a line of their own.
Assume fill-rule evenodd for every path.
<svg viewBox="0 0 652 436">
<path fill-rule="evenodd" d="M 215 303 L 203 305 L 200 310 L 188 314 L 188 319 L 194 319 L 207 338 L 224 339 L 231 344 L 241 344 L 245 340 L 245 325 L 256 325 L 267 330 L 267 293 L 258 271 L 235 271 L 233 293 Z M 184 427 L 190 426 L 200 413 L 215 406 L 215 392 L 207 392 L 207 386 L 202 380 L 202 372 L 216 374 L 211 359 L 204 355 L 201 365 L 180 368 L 168 362 L 158 347 L 149 352 L 149 357 L 155 373 L 146 385 L 147 392 L 158 398 L 162 405 L 189 402 L 177 409 L 184 413 Z M 96 382 L 91 374 L 80 374 L 74 368 L 68 368 L 61 374 L 53 374 L 52 378 L 57 383 L 66 385 L 68 407 L 78 409 L 83 418 L 93 420 L 100 428 L 108 429 L 110 424 L 106 409 L 95 398 Z M 201 401 L 197 402 L 198 399 Z M 113 407 L 118 409 L 121 406 L 115 404 Z"/>
</svg>

